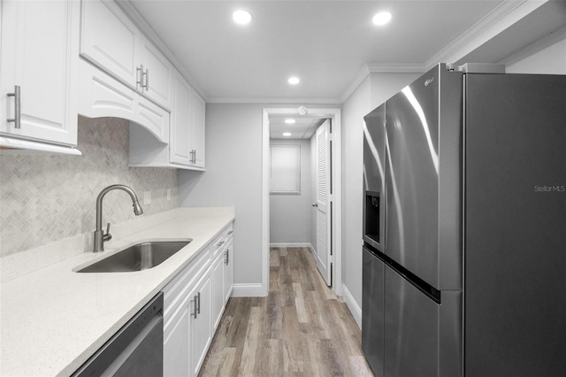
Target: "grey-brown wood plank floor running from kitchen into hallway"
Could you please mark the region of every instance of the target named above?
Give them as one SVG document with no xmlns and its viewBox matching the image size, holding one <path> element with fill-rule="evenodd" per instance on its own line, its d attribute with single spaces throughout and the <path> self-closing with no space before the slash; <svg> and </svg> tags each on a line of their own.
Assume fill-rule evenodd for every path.
<svg viewBox="0 0 566 377">
<path fill-rule="evenodd" d="M 267 297 L 228 301 L 199 376 L 373 376 L 308 248 L 272 248 Z"/>
</svg>

